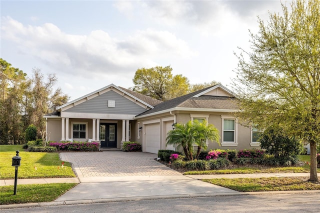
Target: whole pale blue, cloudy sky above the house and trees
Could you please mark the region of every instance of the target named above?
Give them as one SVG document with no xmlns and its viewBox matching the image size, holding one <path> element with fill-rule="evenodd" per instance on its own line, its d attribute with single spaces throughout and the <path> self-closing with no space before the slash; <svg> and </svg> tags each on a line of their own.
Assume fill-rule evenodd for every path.
<svg viewBox="0 0 320 213">
<path fill-rule="evenodd" d="M 71 100 L 167 65 L 191 84 L 230 88 L 257 16 L 281 11 L 279 0 L 0 0 L 0 57 L 28 77 L 55 73 Z"/>
</svg>

